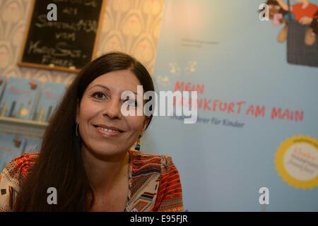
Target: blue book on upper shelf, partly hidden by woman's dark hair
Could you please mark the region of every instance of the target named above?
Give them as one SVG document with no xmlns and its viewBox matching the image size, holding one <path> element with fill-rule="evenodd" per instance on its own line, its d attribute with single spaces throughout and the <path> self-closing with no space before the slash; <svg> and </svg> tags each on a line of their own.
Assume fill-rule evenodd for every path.
<svg viewBox="0 0 318 226">
<path fill-rule="evenodd" d="M 35 112 L 35 121 L 49 121 L 66 90 L 64 83 L 46 82 Z"/>
</svg>

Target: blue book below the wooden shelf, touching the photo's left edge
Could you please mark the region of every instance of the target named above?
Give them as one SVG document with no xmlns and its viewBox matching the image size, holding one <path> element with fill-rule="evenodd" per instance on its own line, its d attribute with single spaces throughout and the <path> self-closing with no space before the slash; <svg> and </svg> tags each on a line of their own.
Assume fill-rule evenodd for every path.
<svg viewBox="0 0 318 226">
<path fill-rule="evenodd" d="M 4 169 L 6 164 L 22 154 L 25 139 L 21 136 L 10 134 L 0 134 L 0 169 Z"/>
</svg>

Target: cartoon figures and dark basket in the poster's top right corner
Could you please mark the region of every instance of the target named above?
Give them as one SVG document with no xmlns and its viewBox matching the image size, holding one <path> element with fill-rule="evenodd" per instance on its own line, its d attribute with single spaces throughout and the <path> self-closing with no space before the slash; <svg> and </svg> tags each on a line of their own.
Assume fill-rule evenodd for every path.
<svg viewBox="0 0 318 226">
<path fill-rule="evenodd" d="M 277 40 L 287 42 L 288 63 L 318 67 L 318 6 L 310 0 L 266 0 L 263 8 L 259 16 L 283 24 Z"/>
</svg>

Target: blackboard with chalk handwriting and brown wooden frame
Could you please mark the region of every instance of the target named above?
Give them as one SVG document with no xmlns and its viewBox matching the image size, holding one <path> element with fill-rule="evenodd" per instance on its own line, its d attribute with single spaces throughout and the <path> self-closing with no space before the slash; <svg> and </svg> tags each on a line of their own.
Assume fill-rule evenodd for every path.
<svg viewBox="0 0 318 226">
<path fill-rule="evenodd" d="M 49 21 L 49 4 L 57 20 Z M 95 57 L 105 0 L 33 0 L 19 66 L 78 72 Z"/>
</svg>

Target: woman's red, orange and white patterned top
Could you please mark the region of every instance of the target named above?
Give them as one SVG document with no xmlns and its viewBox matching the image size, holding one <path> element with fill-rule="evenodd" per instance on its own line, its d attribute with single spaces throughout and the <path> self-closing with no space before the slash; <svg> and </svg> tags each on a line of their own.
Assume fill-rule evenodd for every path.
<svg viewBox="0 0 318 226">
<path fill-rule="evenodd" d="M 12 211 L 20 182 L 38 157 L 23 154 L 8 163 L 0 175 L 0 212 Z M 141 211 L 183 211 L 179 172 L 167 155 L 129 150 L 129 192 L 126 209 Z"/>
</svg>

